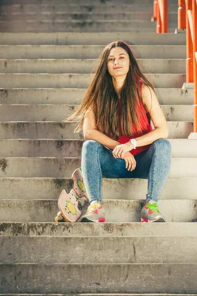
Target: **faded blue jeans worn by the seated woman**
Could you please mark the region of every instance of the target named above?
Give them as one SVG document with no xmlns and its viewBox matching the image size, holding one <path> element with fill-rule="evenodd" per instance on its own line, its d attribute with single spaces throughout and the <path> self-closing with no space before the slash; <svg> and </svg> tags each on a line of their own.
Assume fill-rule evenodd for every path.
<svg viewBox="0 0 197 296">
<path fill-rule="evenodd" d="M 132 171 L 126 169 L 124 159 L 115 158 L 112 149 L 95 140 L 85 141 L 81 151 L 82 175 L 90 202 L 102 202 L 102 177 L 148 179 L 146 201 L 158 202 L 171 164 L 171 145 L 168 140 L 158 139 L 149 149 L 134 155 L 136 167 Z"/>
</svg>

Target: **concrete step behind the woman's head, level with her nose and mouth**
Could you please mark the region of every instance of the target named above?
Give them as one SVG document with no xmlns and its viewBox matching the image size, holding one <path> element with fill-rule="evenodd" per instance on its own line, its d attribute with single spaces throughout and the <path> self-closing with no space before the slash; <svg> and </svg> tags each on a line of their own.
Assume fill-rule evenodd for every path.
<svg viewBox="0 0 197 296">
<path fill-rule="evenodd" d="M 182 74 L 186 73 L 185 59 L 137 59 L 139 68 L 145 73 Z M 41 59 L 6 60 L 0 59 L 0 73 L 94 73 L 100 60 L 93 59 Z"/>
</svg>

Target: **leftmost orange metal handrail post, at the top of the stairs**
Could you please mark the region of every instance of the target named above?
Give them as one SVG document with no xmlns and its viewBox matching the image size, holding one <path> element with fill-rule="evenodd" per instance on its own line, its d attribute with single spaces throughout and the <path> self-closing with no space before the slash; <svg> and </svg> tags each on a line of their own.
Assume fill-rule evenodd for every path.
<svg viewBox="0 0 197 296">
<path fill-rule="evenodd" d="M 153 20 L 157 21 L 157 33 L 168 33 L 168 0 L 154 0 Z"/>
</svg>

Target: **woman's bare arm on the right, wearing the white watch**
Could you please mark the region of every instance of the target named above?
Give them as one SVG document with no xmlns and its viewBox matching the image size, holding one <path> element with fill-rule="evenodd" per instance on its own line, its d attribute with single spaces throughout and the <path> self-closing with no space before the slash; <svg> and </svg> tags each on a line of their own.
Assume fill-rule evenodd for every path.
<svg viewBox="0 0 197 296">
<path fill-rule="evenodd" d="M 152 100 L 151 100 L 151 94 L 152 94 Z M 135 138 L 137 147 L 152 144 L 154 141 L 158 139 L 161 139 L 161 138 L 166 139 L 168 137 L 167 121 L 160 107 L 157 96 L 152 90 L 152 88 L 148 87 L 145 84 L 142 85 L 142 100 L 147 111 L 151 116 L 155 129 L 147 133 L 146 135 Z"/>
</svg>

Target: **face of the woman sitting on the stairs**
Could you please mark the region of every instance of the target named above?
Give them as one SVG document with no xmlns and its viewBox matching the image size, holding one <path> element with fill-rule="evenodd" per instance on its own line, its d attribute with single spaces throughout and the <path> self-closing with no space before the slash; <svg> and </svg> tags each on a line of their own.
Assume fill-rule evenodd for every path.
<svg viewBox="0 0 197 296">
<path fill-rule="evenodd" d="M 119 69 L 115 69 L 115 68 Z M 107 59 L 107 69 L 111 76 L 117 77 L 120 75 L 126 75 L 129 72 L 130 58 L 125 49 L 122 47 L 113 47 L 110 50 Z"/>
</svg>

